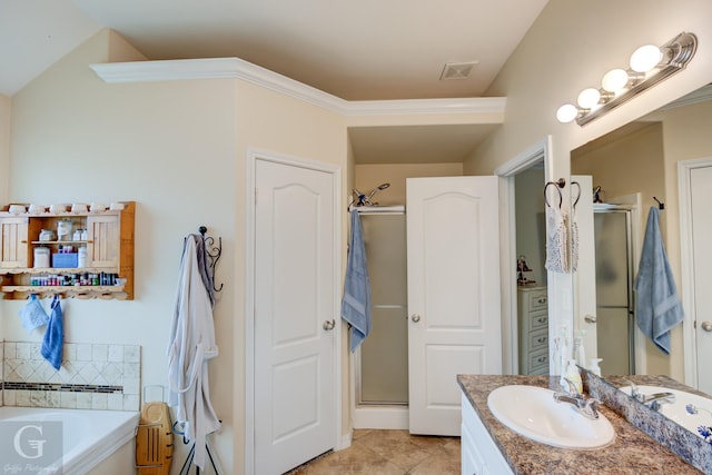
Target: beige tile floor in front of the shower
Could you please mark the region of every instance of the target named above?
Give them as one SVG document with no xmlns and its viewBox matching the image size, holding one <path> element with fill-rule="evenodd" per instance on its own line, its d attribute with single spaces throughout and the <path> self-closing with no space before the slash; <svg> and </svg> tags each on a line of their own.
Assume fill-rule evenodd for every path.
<svg viewBox="0 0 712 475">
<path fill-rule="evenodd" d="M 328 453 L 290 475 L 458 475 L 459 437 L 407 431 L 354 431 L 348 448 Z"/>
</svg>

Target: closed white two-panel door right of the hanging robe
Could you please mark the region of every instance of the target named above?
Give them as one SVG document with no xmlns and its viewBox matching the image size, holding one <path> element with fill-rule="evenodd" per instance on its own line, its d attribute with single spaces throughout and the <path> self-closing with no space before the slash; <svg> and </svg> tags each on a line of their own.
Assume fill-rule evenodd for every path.
<svg viewBox="0 0 712 475">
<path fill-rule="evenodd" d="M 287 472 L 335 443 L 333 177 L 256 162 L 255 473 L 260 475 Z"/>
</svg>

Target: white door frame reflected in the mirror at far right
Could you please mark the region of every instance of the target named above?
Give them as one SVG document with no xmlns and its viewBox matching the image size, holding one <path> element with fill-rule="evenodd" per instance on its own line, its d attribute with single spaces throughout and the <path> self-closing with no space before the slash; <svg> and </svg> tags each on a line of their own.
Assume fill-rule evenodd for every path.
<svg viewBox="0 0 712 475">
<path fill-rule="evenodd" d="M 690 196 L 690 172 L 694 168 L 712 167 L 712 157 L 682 160 L 678 162 L 678 201 L 680 204 L 680 267 L 682 284 L 682 307 L 685 309 L 683 324 L 685 384 L 698 387 L 698 346 L 694 321 L 694 268 L 692 256 L 692 202 Z"/>
</svg>

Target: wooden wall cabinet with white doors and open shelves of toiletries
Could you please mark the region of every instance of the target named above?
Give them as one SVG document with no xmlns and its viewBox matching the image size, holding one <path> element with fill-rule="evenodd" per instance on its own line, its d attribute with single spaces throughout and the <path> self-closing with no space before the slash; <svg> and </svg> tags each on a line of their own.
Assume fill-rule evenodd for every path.
<svg viewBox="0 0 712 475">
<path fill-rule="evenodd" d="M 120 205 L 122 209 L 79 214 L 0 211 L 0 291 L 3 298 L 60 294 L 78 298 L 134 299 L 136 204 L 125 201 Z M 82 229 L 86 234 L 82 232 L 79 239 L 72 235 L 40 239 L 42 230 L 57 234 L 60 221 L 71 221 L 73 230 Z M 63 254 L 69 246 L 72 253 Z M 36 249 L 40 247 L 48 248 L 50 267 L 34 261 Z M 78 267 L 79 248 L 86 248 L 87 253 L 82 267 Z"/>
</svg>

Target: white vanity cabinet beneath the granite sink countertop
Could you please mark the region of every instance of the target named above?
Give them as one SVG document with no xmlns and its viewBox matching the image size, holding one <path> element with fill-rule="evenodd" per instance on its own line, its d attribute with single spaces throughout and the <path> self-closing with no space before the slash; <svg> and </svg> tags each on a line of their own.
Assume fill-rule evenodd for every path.
<svg viewBox="0 0 712 475">
<path fill-rule="evenodd" d="M 512 474 L 512 468 L 510 468 L 465 394 L 462 395 L 462 474 Z"/>
</svg>

